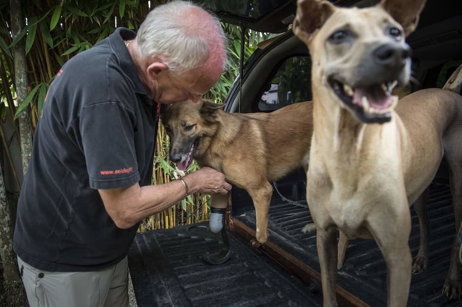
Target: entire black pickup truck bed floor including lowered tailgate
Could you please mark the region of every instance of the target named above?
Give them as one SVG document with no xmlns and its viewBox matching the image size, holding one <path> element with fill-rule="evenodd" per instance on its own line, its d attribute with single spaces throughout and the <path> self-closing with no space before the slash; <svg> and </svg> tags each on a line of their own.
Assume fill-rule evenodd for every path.
<svg viewBox="0 0 462 307">
<path fill-rule="evenodd" d="M 427 209 L 431 227 L 428 270 L 412 276 L 408 305 L 461 306 L 462 301 L 449 301 L 441 295 L 455 235 L 447 181 L 435 180 L 432 183 Z M 290 255 L 288 258 L 295 257 L 296 263 L 302 263 L 304 270 L 311 274 L 310 283 L 303 278 L 305 271 L 287 272 L 281 269 L 281 265 L 287 268 L 287 261 L 277 264 L 277 257 L 270 256 L 273 258 L 270 260 L 264 256 L 265 246 L 252 248 L 247 241 L 252 238 L 252 231 L 247 228 L 255 229 L 255 211 L 248 208 L 245 213 L 234 211 L 232 207 L 230 229 L 238 230 L 235 232 L 241 236 L 228 232 L 233 255 L 221 265 L 209 265 L 200 259 L 206 250 L 218 253 L 221 249 L 220 235 L 210 233 L 204 225 L 137 235 L 129 252 L 129 265 L 140 307 L 321 305 L 321 291 L 316 280 L 319 278 L 316 233 L 301 233 L 303 226 L 312 222 L 309 210 L 274 195 L 269 211 L 269 244 Z M 411 212 L 410 247 L 415 256 L 419 232 L 417 217 L 412 209 Z M 238 224 L 245 226 L 238 229 Z M 288 265 L 287 270 L 291 271 L 291 268 Z M 338 272 L 338 289 L 357 298 L 353 303 L 350 300 L 349 304 L 386 306 L 386 280 L 386 265 L 377 244 L 373 240 L 351 241 L 344 267 Z"/>
</svg>

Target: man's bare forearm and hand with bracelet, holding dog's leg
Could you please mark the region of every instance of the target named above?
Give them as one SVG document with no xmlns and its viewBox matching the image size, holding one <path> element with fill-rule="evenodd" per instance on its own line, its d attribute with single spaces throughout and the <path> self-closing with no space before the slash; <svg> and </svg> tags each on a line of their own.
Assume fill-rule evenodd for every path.
<svg viewBox="0 0 462 307">
<path fill-rule="evenodd" d="M 183 177 L 189 193 L 226 194 L 231 185 L 224 175 L 205 167 Z M 130 228 L 143 218 L 162 212 L 185 197 L 180 180 L 164 185 L 140 187 L 138 183 L 126 188 L 98 190 L 107 213 L 119 228 Z"/>
</svg>

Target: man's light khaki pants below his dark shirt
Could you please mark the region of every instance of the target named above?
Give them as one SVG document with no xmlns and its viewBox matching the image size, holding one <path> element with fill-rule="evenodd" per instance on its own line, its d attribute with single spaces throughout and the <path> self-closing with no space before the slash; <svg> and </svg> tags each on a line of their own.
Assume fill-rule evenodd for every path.
<svg viewBox="0 0 462 307">
<path fill-rule="evenodd" d="M 127 307 L 128 261 L 94 272 L 37 270 L 20 257 L 17 263 L 31 307 Z"/>
</svg>

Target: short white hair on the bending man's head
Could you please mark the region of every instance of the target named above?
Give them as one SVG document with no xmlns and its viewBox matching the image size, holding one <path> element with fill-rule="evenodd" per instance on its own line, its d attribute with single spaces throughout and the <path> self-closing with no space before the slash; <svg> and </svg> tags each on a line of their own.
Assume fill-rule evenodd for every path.
<svg viewBox="0 0 462 307">
<path fill-rule="evenodd" d="M 137 34 L 141 56 L 158 57 L 170 71 L 181 73 L 204 65 L 211 47 L 221 43 L 224 69 L 225 35 L 219 19 L 208 12 L 209 18 L 190 23 L 191 8 L 202 9 L 196 4 L 176 0 L 150 11 Z"/>
</svg>

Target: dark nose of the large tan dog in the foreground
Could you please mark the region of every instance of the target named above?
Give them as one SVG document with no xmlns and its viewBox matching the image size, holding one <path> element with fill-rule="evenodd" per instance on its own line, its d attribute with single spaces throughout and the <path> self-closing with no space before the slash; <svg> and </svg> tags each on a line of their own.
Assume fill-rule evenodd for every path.
<svg viewBox="0 0 462 307">
<path fill-rule="evenodd" d="M 399 67 L 406 64 L 411 57 L 411 48 L 406 44 L 383 44 L 374 50 L 375 62 L 379 65 Z"/>
</svg>

